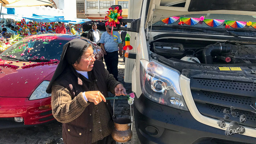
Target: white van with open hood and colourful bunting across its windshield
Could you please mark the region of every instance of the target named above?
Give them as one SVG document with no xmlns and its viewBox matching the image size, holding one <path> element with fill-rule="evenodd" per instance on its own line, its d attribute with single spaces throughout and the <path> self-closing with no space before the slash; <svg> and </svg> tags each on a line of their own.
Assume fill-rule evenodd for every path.
<svg viewBox="0 0 256 144">
<path fill-rule="evenodd" d="M 133 143 L 256 143 L 255 0 L 129 0 L 128 18 Z"/>
</svg>

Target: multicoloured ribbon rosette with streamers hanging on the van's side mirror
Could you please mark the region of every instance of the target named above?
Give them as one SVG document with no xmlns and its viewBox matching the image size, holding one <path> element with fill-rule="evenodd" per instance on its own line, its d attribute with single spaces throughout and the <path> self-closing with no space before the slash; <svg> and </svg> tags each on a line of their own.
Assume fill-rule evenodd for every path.
<svg viewBox="0 0 256 144">
<path fill-rule="evenodd" d="M 123 17 L 121 16 L 122 10 L 119 10 L 119 7 L 117 6 L 114 8 L 109 8 L 109 11 L 106 12 L 107 15 L 105 16 L 105 20 L 108 20 L 105 25 L 109 25 L 112 27 L 111 34 L 113 37 L 113 28 L 116 27 L 116 24 L 119 24 L 120 21 L 119 19 L 122 19 Z"/>
</svg>

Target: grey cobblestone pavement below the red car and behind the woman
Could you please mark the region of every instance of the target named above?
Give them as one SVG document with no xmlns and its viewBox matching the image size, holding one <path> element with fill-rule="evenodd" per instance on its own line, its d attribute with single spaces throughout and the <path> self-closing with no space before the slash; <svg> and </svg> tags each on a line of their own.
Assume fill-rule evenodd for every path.
<svg viewBox="0 0 256 144">
<path fill-rule="evenodd" d="M 126 92 L 129 94 L 131 93 L 131 84 L 123 81 L 124 69 L 125 63 L 122 58 L 119 58 L 118 81 L 124 85 Z M 115 102 L 115 115 L 116 117 L 130 118 L 130 105 L 127 100 Z M 128 141 L 125 144 L 130 143 Z M 33 127 L 0 130 L 0 144 L 63 144 L 62 123 L 54 121 Z"/>
</svg>

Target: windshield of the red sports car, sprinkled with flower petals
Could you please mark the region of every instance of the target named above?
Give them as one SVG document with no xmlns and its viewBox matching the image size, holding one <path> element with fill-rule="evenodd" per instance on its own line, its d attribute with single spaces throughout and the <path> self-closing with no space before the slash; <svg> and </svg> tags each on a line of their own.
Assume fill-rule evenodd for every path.
<svg viewBox="0 0 256 144">
<path fill-rule="evenodd" d="M 1 59 L 20 60 L 51 60 L 60 59 L 62 47 L 68 40 L 56 40 L 56 37 L 46 39 L 23 39 L 10 46 L 0 54 Z"/>
</svg>

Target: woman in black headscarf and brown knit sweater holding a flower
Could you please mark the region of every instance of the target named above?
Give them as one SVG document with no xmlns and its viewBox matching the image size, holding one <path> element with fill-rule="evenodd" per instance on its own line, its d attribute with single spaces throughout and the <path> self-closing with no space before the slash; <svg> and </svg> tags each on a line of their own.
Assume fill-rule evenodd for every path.
<svg viewBox="0 0 256 144">
<path fill-rule="evenodd" d="M 116 144 L 111 136 L 113 111 L 105 97 L 108 91 L 125 95 L 126 90 L 94 56 L 89 42 L 67 42 L 46 89 L 53 116 L 63 123 L 64 144 Z"/>
</svg>

